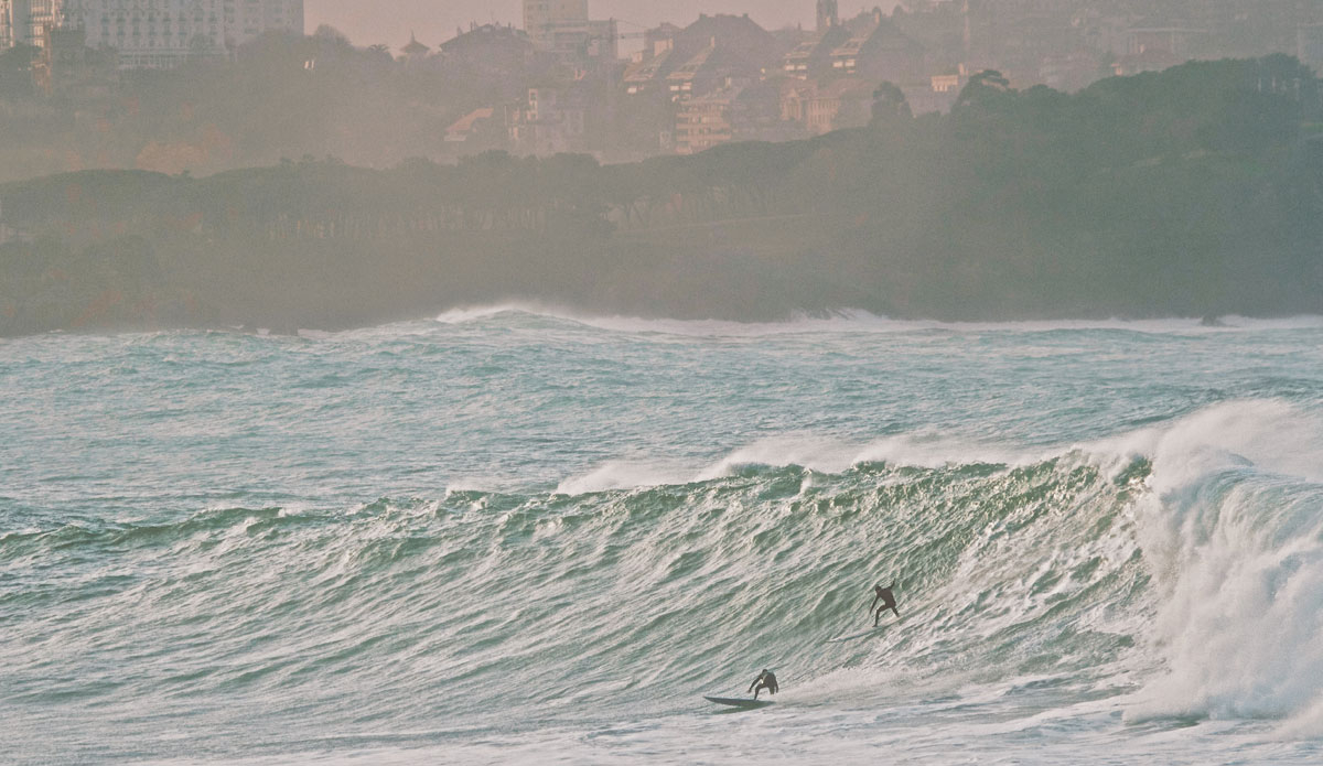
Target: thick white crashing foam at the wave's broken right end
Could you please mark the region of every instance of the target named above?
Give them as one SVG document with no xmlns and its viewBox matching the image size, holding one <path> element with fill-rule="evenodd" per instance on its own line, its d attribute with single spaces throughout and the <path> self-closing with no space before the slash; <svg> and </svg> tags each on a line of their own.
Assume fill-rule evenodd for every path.
<svg viewBox="0 0 1323 766">
<path fill-rule="evenodd" d="M 1323 734 L 1323 430 L 1285 402 L 1208 407 L 1132 447 L 1167 672 L 1132 720 L 1282 717 Z"/>
</svg>

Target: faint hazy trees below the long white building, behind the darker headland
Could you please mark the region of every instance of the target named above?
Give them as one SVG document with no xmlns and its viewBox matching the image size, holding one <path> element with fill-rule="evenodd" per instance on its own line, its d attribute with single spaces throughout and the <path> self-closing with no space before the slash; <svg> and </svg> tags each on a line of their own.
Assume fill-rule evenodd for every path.
<svg viewBox="0 0 1323 766">
<path fill-rule="evenodd" d="M 172 70 L 116 70 L 112 50 L 89 49 L 85 60 L 42 89 L 38 49 L 0 52 L 0 181 L 83 168 L 204 175 L 280 157 L 384 167 L 446 156 L 448 124 L 517 101 L 531 77 L 404 65 L 385 46 L 355 48 L 327 26 L 307 37 L 267 33 L 233 61 Z"/>
</svg>

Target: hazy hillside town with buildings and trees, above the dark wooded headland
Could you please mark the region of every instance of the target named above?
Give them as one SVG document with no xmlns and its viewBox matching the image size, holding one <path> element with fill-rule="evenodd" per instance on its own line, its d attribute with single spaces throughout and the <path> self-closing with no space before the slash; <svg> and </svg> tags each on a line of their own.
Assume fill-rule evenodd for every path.
<svg viewBox="0 0 1323 766">
<path fill-rule="evenodd" d="M 902 0 L 855 16 L 815 5 L 812 29 L 730 15 L 635 29 L 594 19 L 589 0 L 524 0 L 523 28 L 475 22 L 392 50 L 325 26 L 304 37 L 302 0 L 0 0 L 0 144 L 41 155 L 0 147 L 0 175 L 205 173 L 306 155 L 384 167 L 491 149 L 631 161 L 863 126 L 882 83 L 921 115 L 949 111 L 984 70 L 1069 93 L 1188 60 L 1286 53 L 1323 66 L 1316 0 Z M 249 136 L 225 114 L 254 111 L 229 91 L 235 81 L 261 90 L 273 86 L 253 81 L 295 74 L 288 106 L 324 124 L 267 106 L 249 119 L 270 130 Z M 389 103 L 352 119 L 323 103 L 385 91 Z M 156 118 L 140 115 L 149 108 Z"/>
</svg>

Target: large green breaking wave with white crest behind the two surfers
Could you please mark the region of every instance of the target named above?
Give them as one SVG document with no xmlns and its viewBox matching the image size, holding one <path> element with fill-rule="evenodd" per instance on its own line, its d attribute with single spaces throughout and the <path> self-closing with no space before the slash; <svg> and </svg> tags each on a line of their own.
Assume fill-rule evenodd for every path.
<svg viewBox="0 0 1323 766">
<path fill-rule="evenodd" d="M 550 492 L 12 532 L 0 614 L 25 618 L 0 640 L 25 661 L 7 695 L 482 728 L 665 713 L 774 667 L 804 704 L 1029 679 L 1118 696 L 1135 721 L 1316 734 L 1319 426 L 1232 402 L 1043 454 L 765 442 Z M 21 586 L 52 568 L 60 585 Z M 835 640 L 892 581 L 904 620 Z"/>
</svg>

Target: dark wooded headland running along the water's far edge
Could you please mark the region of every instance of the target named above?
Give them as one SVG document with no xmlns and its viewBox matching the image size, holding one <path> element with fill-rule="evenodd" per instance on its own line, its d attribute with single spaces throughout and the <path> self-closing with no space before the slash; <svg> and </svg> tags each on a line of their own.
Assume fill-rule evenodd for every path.
<svg viewBox="0 0 1323 766">
<path fill-rule="evenodd" d="M 1319 87 L 1289 57 L 598 165 L 86 172 L 0 187 L 0 331 L 343 327 L 532 298 L 771 319 L 1323 312 Z"/>
</svg>

